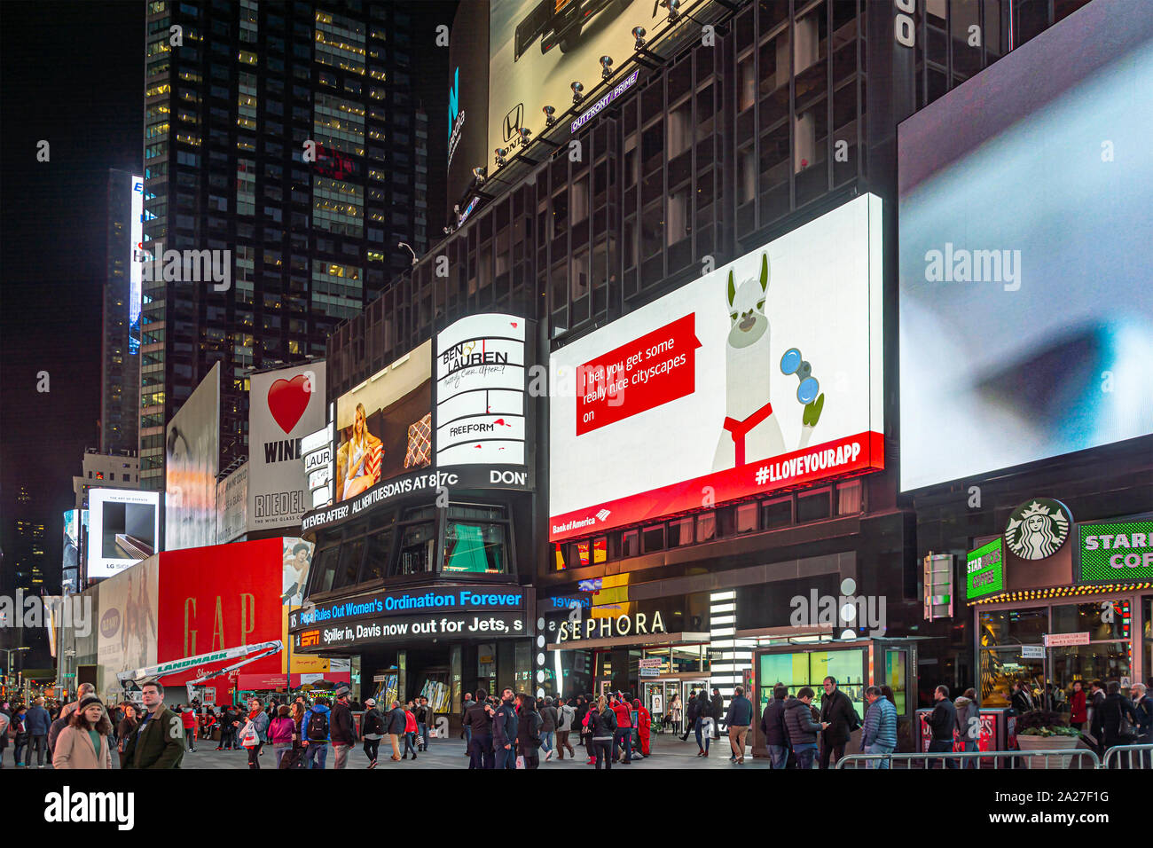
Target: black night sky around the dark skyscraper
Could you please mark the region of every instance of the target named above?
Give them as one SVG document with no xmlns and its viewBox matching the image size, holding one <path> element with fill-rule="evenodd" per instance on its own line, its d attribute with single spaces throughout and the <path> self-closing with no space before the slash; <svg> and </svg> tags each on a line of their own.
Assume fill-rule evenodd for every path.
<svg viewBox="0 0 1153 848">
<path fill-rule="evenodd" d="M 405 3 L 431 43 L 455 0 Z M 59 579 L 63 510 L 85 448 L 99 448 L 100 309 L 110 167 L 141 173 L 144 0 L 0 3 L 0 547 L 12 579 L 15 497 L 46 525 L 46 577 Z M 422 36 L 421 32 L 427 32 Z M 430 119 L 430 181 L 440 178 L 447 51 L 414 57 L 414 96 Z M 442 67 L 443 66 L 443 67 Z M 37 143 L 51 160 L 36 159 Z M 444 207 L 430 186 L 429 232 Z M 37 391 L 48 373 L 50 391 Z"/>
</svg>

